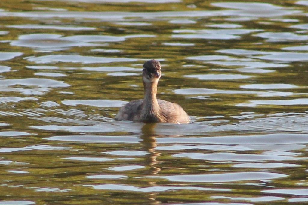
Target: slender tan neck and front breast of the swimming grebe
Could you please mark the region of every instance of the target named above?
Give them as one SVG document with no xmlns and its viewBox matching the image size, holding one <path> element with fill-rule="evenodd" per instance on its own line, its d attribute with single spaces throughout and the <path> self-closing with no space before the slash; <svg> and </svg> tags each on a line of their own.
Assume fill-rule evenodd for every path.
<svg viewBox="0 0 308 205">
<path fill-rule="evenodd" d="M 157 82 L 147 82 L 144 84 L 143 111 L 146 121 L 159 121 L 160 107 L 156 98 Z"/>
</svg>

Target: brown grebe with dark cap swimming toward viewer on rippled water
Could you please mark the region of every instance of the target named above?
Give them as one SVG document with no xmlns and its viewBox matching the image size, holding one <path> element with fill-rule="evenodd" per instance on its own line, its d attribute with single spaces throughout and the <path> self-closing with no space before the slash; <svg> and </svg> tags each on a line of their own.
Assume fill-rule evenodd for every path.
<svg viewBox="0 0 308 205">
<path fill-rule="evenodd" d="M 145 62 L 142 70 L 144 99 L 133 100 L 122 106 L 115 120 L 174 124 L 189 123 L 190 118 L 180 105 L 156 98 L 157 84 L 160 77 L 160 62 L 154 59 Z"/>
</svg>

